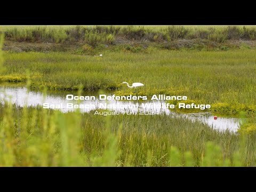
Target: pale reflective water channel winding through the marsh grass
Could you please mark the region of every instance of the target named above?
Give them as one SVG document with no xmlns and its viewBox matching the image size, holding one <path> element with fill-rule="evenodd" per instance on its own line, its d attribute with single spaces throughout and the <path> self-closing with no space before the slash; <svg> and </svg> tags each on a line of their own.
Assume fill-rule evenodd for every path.
<svg viewBox="0 0 256 192">
<path fill-rule="evenodd" d="M 19 106 L 37 106 L 43 105 L 43 103 L 49 103 L 50 105 L 61 104 L 62 107 L 60 110 L 63 112 L 71 111 L 74 109 L 66 108 L 66 104 L 72 101 L 66 100 L 67 94 L 73 94 L 70 91 L 55 91 L 55 92 L 47 92 L 47 95 L 44 97 L 42 92 L 29 91 L 27 92 L 26 87 L 8 87 L 2 86 L 0 87 L 0 100 L 11 101 L 12 103 L 16 103 Z M 74 92 L 74 95 L 76 92 Z M 110 93 L 108 93 L 110 95 Z M 98 95 L 96 93 L 83 93 L 83 95 Z M 74 101 L 73 101 L 74 102 Z M 145 105 L 146 103 L 151 105 Z M 179 114 L 173 111 L 170 111 L 166 108 L 165 103 L 163 101 L 143 101 L 143 102 L 134 102 L 134 101 L 116 101 L 116 100 L 86 100 L 79 103 L 80 105 L 87 105 L 88 108 L 81 109 L 82 112 L 89 112 L 95 109 L 106 109 L 104 105 L 111 104 L 111 106 L 116 106 L 111 110 L 119 111 L 124 113 L 129 110 L 133 113 L 137 113 L 139 111 L 151 111 L 155 114 L 167 114 L 172 116 L 177 116 L 181 118 L 188 118 L 191 121 L 201 121 L 213 129 L 218 129 L 220 131 L 230 130 L 236 131 L 239 126 L 239 119 L 236 118 L 227 118 L 227 117 L 218 117 L 218 119 L 214 120 L 213 115 L 209 113 L 197 113 L 197 114 Z M 128 106 L 138 105 L 138 108 L 129 108 Z"/>
</svg>

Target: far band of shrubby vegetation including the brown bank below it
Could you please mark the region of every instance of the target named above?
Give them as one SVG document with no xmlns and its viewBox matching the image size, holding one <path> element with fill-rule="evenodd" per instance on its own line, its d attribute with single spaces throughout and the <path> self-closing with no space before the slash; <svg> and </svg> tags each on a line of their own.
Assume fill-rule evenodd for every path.
<svg viewBox="0 0 256 192">
<path fill-rule="evenodd" d="M 148 46 L 167 50 L 255 49 L 254 26 L 4 26 L 4 50 L 99 50 L 143 52 Z"/>
</svg>

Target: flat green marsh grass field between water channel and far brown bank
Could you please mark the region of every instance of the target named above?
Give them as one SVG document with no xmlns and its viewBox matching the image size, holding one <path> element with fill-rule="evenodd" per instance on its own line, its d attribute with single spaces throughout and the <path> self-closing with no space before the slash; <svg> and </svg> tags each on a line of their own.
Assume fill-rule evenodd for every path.
<svg viewBox="0 0 256 192">
<path fill-rule="evenodd" d="M 133 94 L 123 81 L 142 82 L 139 95 L 186 95 L 187 102 L 211 104 L 218 113 L 255 114 L 255 50 L 102 52 L 103 57 L 67 53 L 5 52 L 0 81 L 20 82 L 30 73 L 31 88 Z M 173 104 L 177 105 L 177 102 Z"/>
</svg>

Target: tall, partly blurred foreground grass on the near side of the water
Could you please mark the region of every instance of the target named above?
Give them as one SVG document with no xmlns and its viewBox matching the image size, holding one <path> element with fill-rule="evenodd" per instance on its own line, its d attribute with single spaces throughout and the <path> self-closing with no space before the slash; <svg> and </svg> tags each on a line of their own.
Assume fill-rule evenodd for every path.
<svg viewBox="0 0 256 192">
<path fill-rule="evenodd" d="M 0 130 L 0 166 L 256 165 L 255 135 L 172 116 L 104 117 L 5 104 Z"/>
</svg>

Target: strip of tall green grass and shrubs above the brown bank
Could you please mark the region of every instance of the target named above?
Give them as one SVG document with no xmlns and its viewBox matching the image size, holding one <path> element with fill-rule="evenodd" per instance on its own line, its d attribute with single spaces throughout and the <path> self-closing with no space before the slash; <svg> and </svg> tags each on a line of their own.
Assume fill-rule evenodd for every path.
<svg viewBox="0 0 256 192">
<path fill-rule="evenodd" d="M 254 26 L 34 26 L 4 27 L 7 40 L 18 42 L 77 42 L 91 45 L 121 40 L 164 42 L 174 39 L 255 40 Z M 115 41 L 117 38 L 118 41 Z"/>
</svg>

